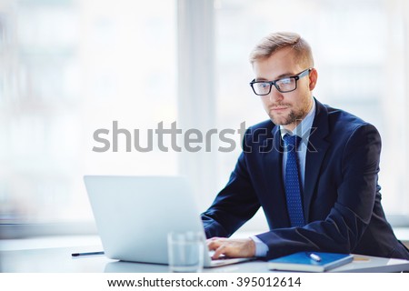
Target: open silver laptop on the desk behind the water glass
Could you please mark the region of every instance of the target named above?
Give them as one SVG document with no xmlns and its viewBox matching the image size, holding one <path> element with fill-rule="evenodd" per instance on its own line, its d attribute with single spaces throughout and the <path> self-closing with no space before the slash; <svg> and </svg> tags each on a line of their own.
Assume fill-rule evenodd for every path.
<svg viewBox="0 0 409 291">
<path fill-rule="evenodd" d="M 205 237 L 195 197 L 185 177 L 85 176 L 84 180 L 105 256 L 167 265 L 169 232 L 196 231 Z M 205 252 L 204 266 L 248 260 L 212 260 Z"/>
</svg>

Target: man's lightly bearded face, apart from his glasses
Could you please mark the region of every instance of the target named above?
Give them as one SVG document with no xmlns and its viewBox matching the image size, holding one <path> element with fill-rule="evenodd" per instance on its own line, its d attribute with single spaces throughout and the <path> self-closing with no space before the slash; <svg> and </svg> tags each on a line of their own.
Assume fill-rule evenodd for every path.
<svg viewBox="0 0 409 291">
<path fill-rule="evenodd" d="M 297 75 L 308 67 L 297 61 L 290 47 L 281 49 L 269 58 L 255 61 L 253 64 L 256 81 L 274 81 Z M 294 91 L 281 93 L 273 85 L 269 95 L 260 96 L 265 112 L 275 125 L 284 125 L 285 129 L 293 130 L 308 114 L 313 105 L 312 91 L 316 78 L 317 73 L 313 69 L 309 75 L 297 81 L 297 88 Z"/>
</svg>

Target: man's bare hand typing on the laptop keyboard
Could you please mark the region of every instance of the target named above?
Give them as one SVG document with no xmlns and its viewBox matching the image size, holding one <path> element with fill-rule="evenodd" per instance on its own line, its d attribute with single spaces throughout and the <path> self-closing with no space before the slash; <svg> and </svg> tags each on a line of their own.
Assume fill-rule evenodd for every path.
<svg viewBox="0 0 409 291">
<path fill-rule="evenodd" d="M 251 257 L 255 256 L 255 244 L 251 238 L 212 237 L 207 240 L 209 250 L 214 250 L 213 259 L 219 256 Z"/>
</svg>

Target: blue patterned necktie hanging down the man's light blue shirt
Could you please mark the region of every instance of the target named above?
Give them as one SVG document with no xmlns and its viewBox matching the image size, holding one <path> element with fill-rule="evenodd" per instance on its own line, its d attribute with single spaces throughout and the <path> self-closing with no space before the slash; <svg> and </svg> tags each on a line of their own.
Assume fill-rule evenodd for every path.
<svg viewBox="0 0 409 291">
<path fill-rule="evenodd" d="M 287 150 L 285 166 L 285 196 L 291 226 L 304 226 L 303 204 L 301 203 L 301 183 L 296 149 L 301 142 L 297 135 L 284 135 L 284 146 Z"/>
</svg>

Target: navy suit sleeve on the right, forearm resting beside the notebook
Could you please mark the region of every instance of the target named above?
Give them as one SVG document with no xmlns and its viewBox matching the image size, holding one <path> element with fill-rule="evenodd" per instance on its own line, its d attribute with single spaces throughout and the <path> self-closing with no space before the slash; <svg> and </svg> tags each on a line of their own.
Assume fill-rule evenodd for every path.
<svg viewBox="0 0 409 291">
<path fill-rule="evenodd" d="M 342 153 L 342 181 L 337 198 L 324 220 L 304 227 L 274 229 L 258 235 L 268 247 L 267 258 L 298 251 L 351 253 L 369 225 L 377 185 L 381 137 L 373 125 L 360 125 Z"/>
</svg>

